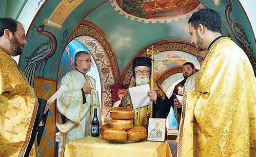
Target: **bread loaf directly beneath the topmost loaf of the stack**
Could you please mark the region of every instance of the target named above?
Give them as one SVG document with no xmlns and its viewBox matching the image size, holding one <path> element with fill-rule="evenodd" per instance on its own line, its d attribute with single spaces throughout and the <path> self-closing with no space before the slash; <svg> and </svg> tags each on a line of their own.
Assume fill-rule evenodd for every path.
<svg viewBox="0 0 256 157">
<path fill-rule="evenodd" d="M 128 130 L 128 129 L 131 129 L 134 126 L 133 125 L 133 119 L 130 119 L 130 120 L 111 119 L 110 123 L 111 123 L 111 128 L 114 128 L 114 129 Z"/>
</svg>

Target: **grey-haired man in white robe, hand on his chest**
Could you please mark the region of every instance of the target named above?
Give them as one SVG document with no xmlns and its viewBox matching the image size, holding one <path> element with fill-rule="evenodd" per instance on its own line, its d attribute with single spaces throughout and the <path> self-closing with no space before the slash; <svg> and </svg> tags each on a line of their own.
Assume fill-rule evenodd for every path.
<svg viewBox="0 0 256 157">
<path fill-rule="evenodd" d="M 65 142 L 91 136 L 91 120 L 94 108 L 100 121 L 100 108 L 95 79 L 86 73 L 91 69 L 92 60 L 88 52 L 75 54 L 75 70 L 63 76 L 60 87 L 65 88 L 57 98 L 57 127 L 59 129 L 59 157 Z"/>
</svg>

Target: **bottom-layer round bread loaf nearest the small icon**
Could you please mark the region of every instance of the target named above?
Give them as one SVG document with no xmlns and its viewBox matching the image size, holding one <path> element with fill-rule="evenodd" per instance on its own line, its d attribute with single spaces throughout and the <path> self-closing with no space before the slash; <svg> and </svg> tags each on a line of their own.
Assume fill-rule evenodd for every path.
<svg viewBox="0 0 256 157">
<path fill-rule="evenodd" d="M 140 140 L 147 137 L 147 130 L 142 125 L 137 125 L 127 131 L 127 140 Z"/>
</svg>

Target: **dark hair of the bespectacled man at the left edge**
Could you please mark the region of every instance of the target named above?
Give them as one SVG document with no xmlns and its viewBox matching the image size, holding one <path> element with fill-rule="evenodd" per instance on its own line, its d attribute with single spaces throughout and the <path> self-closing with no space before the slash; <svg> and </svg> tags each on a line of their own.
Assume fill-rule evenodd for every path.
<svg viewBox="0 0 256 157">
<path fill-rule="evenodd" d="M 14 34 L 14 32 L 17 31 L 17 23 L 20 23 L 20 22 L 9 17 L 1 17 L 0 18 L 0 37 L 3 35 L 3 31 L 5 29 L 10 30 Z"/>
</svg>

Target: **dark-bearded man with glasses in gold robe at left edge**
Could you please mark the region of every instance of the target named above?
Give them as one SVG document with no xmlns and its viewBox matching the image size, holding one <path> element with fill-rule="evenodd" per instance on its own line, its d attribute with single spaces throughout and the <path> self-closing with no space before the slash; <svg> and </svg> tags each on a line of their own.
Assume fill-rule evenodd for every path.
<svg viewBox="0 0 256 157">
<path fill-rule="evenodd" d="M 11 57 L 20 55 L 26 43 L 20 22 L 0 18 L 0 157 L 38 156 L 39 141 L 33 143 L 40 140 L 51 104 L 36 98 Z"/>
</svg>

